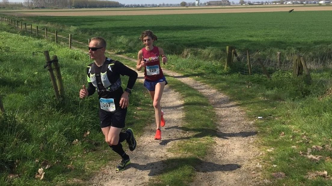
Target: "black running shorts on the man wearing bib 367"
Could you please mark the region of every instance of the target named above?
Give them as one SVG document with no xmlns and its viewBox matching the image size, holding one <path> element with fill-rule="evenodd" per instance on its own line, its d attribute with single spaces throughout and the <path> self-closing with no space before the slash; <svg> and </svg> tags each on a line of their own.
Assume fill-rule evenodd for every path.
<svg viewBox="0 0 332 186">
<path fill-rule="evenodd" d="M 113 126 L 117 128 L 124 127 L 124 120 L 127 114 L 127 108 L 117 108 L 114 112 L 99 109 L 100 127 Z"/>
</svg>

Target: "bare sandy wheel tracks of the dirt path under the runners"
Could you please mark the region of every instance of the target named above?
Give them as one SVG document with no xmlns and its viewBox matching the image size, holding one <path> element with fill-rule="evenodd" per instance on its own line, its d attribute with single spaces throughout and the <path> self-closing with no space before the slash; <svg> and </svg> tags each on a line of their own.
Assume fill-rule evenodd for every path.
<svg viewBox="0 0 332 186">
<path fill-rule="evenodd" d="M 190 185 L 263 185 L 259 163 L 255 160 L 260 152 L 254 144 L 257 132 L 253 122 L 246 119 L 245 113 L 236 103 L 230 102 L 227 96 L 214 88 L 181 74 L 165 69 L 163 71 L 201 92 L 209 99 L 217 114 L 217 132 L 212 135 L 215 141 L 212 153 L 195 167 L 197 174 Z M 95 185 L 146 185 L 149 178 L 161 173 L 160 171 L 165 167 L 162 160 L 174 158 L 174 155 L 166 151 L 166 148 L 172 145 L 171 139 L 185 135 L 185 128 L 181 126 L 182 104 L 179 95 L 166 86 L 162 107 L 166 113 L 165 128 L 167 130 L 163 130 L 163 139 L 169 139 L 166 141 L 170 142 L 160 145 L 153 140 L 155 128 L 151 121 L 144 135 L 138 138 L 137 149 L 129 154 L 133 157 L 130 168 L 120 173 L 113 171 L 114 167 L 106 168 L 94 178 L 93 183 Z M 158 149 L 158 152 L 154 149 Z M 102 183 L 101 180 L 103 180 Z"/>
</svg>

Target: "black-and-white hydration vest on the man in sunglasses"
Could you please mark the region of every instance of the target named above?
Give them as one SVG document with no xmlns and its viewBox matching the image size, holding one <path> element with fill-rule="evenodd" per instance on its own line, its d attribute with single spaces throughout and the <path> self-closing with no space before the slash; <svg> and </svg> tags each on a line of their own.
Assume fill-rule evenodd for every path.
<svg viewBox="0 0 332 186">
<path fill-rule="evenodd" d="M 114 60 L 107 58 L 104 62 L 104 65 L 100 71 L 100 77 L 102 80 L 102 84 L 105 87 L 104 90 L 99 90 L 97 86 L 97 78 L 96 78 L 96 64 L 92 63 L 87 66 L 87 80 L 91 82 L 94 87 L 96 87 L 97 92 L 100 91 L 115 91 L 121 86 L 121 79 L 119 73 L 114 73 L 112 69 L 115 66 Z"/>
</svg>

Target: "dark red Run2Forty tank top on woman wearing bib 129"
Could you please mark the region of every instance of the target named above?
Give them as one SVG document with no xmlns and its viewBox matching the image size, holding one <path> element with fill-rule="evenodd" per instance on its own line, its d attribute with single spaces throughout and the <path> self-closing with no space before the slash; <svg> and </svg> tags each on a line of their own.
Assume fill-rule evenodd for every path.
<svg viewBox="0 0 332 186">
<path fill-rule="evenodd" d="M 148 81 L 157 81 L 164 77 L 160 67 L 159 49 L 153 46 L 151 51 L 142 48 L 143 59 L 145 60 L 144 78 Z"/>
</svg>

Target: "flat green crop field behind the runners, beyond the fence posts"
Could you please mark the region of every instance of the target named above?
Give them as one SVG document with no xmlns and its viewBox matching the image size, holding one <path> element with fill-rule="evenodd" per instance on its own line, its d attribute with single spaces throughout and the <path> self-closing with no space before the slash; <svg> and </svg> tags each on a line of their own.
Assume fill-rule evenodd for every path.
<svg viewBox="0 0 332 186">
<path fill-rule="evenodd" d="M 137 52 L 140 33 L 151 29 L 169 53 L 185 48 L 295 48 L 300 51 L 332 43 L 330 11 L 302 11 L 153 16 L 31 17 L 65 24 L 87 36 L 103 36 L 111 49 Z"/>
</svg>

